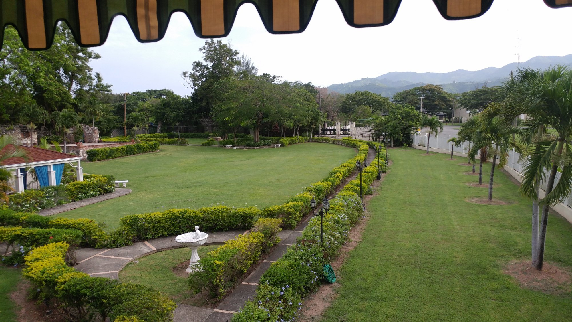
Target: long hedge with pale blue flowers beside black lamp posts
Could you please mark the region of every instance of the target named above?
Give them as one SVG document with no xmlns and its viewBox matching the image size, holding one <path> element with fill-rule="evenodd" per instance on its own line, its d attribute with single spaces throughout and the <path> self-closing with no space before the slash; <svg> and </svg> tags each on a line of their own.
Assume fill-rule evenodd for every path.
<svg viewBox="0 0 572 322">
<path fill-rule="evenodd" d="M 363 184 L 369 186 L 377 173 L 378 164 L 372 162 L 363 171 Z M 324 263 L 339 255 L 339 249 L 348 241 L 349 229 L 363 215 L 358 195 L 344 187 L 330 201 L 329 211 L 324 215 L 324 244 L 320 245 L 320 218 L 315 216 L 296 244 L 261 276 L 255 299 L 236 313 L 232 322 L 297 319 L 301 297 L 319 287 L 324 278 Z"/>
</svg>

